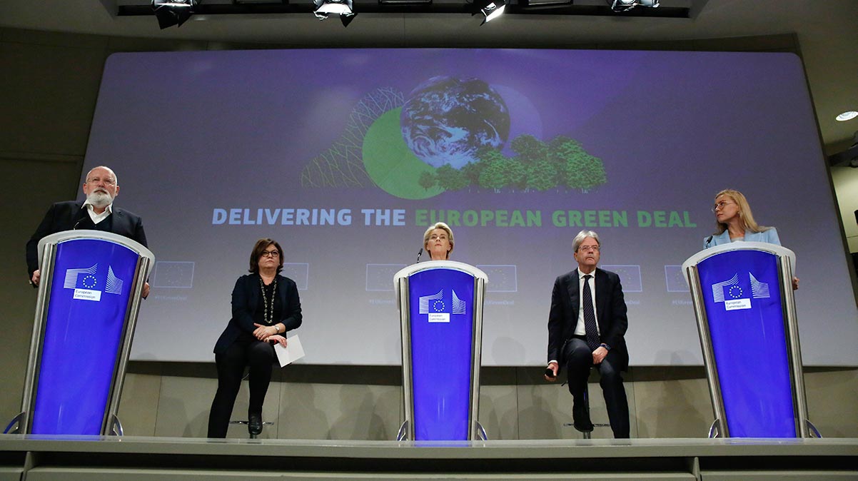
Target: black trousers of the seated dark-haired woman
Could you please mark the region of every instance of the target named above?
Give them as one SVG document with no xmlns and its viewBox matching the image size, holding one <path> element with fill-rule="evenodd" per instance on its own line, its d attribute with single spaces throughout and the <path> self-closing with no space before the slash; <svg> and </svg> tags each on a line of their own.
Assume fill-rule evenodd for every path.
<svg viewBox="0 0 858 481">
<path fill-rule="evenodd" d="M 239 394 L 245 366 L 250 366 L 248 381 L 251 388 L 247 412 L 263 412 L 263 401 L 265 393 L 268 392 L 276 358 L 274 346 L 268 342 L 246 338 L 233 342 L 227 352 L 215 354 L 217 393 L 208 413 L 208 437 L 227 437 L 229 418 L 233 415 L 235 397 Z"/>
</svg>

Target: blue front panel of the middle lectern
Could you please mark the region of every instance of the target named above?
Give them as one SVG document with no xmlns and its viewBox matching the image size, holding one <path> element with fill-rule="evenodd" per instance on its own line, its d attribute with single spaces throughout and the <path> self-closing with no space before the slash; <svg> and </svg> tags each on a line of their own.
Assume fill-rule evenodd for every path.
<svg viewBox="0 0 858 481">
<path fill-rule="evenodd" d="M 474 353 L 474 276 L 427 269 L 408 278 L 414 439 L 467 440 Z"/>
</svg>

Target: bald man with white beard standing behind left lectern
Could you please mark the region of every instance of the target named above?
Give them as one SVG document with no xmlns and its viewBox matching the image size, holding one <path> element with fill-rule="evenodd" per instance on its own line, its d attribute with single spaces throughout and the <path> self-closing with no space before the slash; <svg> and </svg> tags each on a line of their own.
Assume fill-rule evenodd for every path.
<svg viewBox="0 0 858 481">
<path fill-rule="evenodd" d="M 37 248 L 42 237 L 56 232 L 76 229 L 93 229 L 113 232 L 146 245 L 146 232 L 139 216 L 113 207 L 119 194 L 119 183 L 113 171 L 100 165 L 87 173 L 83 183 L 86 201 L 57 202 L 45 213 L 45 219 L 27 242 L 27 272 L 33 287 L 39 286 L 39 256 Z M 147 246 L 148 247 L 148 246 Z M 143 286 L 143 297 L 149 295 L 149 283 Z"/>
</svg>

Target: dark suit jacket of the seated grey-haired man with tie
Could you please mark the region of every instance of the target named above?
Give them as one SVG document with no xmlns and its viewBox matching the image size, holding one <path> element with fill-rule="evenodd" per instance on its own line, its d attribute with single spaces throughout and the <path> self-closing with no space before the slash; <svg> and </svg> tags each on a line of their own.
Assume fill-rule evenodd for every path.
<svg viewBox="0 0 858 481">
<path fill-rule="evenodd" d="M 551 312 L 548 314 L 548 360 L 563 362 L 563 348 L 575 334 L 578 322 L 580 299 L 578 295 L 578 269 L 566 273 L 554 281 L 551 294 Z M 625 330 L 629 327 L 625 315 L 623 287 L 619 276 L 596 268 L 595 270 L 595 315 L 599 323 L 601 342 L 611 346 L 622 359 L 622 370 L 629 365 L 629 352 L 625 348 Z"/>
</svg>

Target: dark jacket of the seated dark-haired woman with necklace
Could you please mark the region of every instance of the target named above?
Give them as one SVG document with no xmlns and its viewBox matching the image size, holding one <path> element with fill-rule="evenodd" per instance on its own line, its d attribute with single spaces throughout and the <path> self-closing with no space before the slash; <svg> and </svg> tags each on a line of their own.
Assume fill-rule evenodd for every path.
<svg viewBox="0 0 858 481">
<path fill-rule="evenodd" d="M 286 330 L 281 332 L 285 335 L 287 331 L 298 328 L 303 318 L 301 316 L 301 301 L 298 298 L 298 286 L 295 286 L 295 281 L 278 274 L 277 294 L 280 296 L 280 304 L 283 306 L 283 313 L 277 322 L 282 322 L 286 326 Z M 257 327 L 253 325 L 253 313 L 256 312 L 262 302 L 259 274 L 243 275 L 235 281 L 233 318 L 229 320 L 227 328 L 224 329 L 221 337 L 215 343 L 215 354 L 226 352 L 227 348 L 239 339 L 239 334 L 242 331 L 252 334 L 256 330 Z"/>
</svg>

